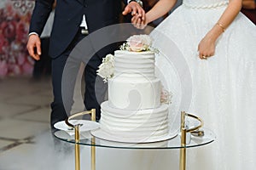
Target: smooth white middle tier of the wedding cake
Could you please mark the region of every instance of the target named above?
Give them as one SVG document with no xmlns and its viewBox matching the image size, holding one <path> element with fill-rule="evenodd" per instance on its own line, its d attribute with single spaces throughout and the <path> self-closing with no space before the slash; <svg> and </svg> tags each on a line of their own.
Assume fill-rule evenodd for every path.
<svg viewBox="0 0 256 170">
<path fill-rule="evenodd" d="M 108 80 L 108 101 L 113 108 L 142 110 L 160 105 L 160 80 L 146 77 L 127 80 L 115 77 Z"/>
</svg>

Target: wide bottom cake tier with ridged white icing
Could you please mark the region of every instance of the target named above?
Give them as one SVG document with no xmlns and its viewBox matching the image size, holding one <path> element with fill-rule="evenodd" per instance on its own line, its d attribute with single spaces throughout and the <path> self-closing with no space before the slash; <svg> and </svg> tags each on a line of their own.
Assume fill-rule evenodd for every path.
<svg viewBox="0 0 256 170">
<path fill-rule="evenodd" d="M 159 138 L 168 133 L 168 106 L 148 110 L 125 111 L 102 103 L 101 127 L 123 138 Z"/>
</svg>

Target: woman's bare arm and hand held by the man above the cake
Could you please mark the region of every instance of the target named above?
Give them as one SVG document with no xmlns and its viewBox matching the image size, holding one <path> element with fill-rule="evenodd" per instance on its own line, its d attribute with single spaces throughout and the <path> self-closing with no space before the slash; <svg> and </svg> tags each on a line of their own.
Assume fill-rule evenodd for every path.
<svg viewBox="0 0 256 170">
<path fill-rule="evenodd" d="M 177 0 L 159 0 L 157 3 L 155 3 L 154 7 L 145 14 L 144 21 L 142 21 L 140 17 L 134 16 L 131 19 L 131 22 L 137 28 L 143 29 L 148 25 L 148 23 L 152 22 L 153 20 L 157 20 L 161 16 L 168 13 L 176 2 Z"/>
</svg>

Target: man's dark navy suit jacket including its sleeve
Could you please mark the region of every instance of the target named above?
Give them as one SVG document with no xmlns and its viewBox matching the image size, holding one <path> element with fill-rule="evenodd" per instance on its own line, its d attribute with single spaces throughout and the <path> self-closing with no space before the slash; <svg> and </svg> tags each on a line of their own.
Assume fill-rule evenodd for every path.
<svg viewBox="0 0 256 170">
<path fill-rule="evenodd" d="M 54 0 L 36 0 L 30 32 L 41 35 L 53 3 Z M 55 58 L 64 52 L 79 31 L 84 14 L 89 32 L 118 23 L 120 3 L 119 0 L 57 0 L 49 55 Z"/>
</svg>

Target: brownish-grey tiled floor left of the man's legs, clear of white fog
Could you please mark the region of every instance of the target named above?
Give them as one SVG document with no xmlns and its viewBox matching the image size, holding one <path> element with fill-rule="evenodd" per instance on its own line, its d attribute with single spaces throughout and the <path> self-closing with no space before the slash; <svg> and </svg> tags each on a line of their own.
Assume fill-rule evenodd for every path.
<svg viewBox="0 0 256 170">
<path fill-rule="evenodd" d="M 11 162 L 26 157 L 35 137 L 49 132 L 50 82 L 29 77 L 0 80 L 0 169 L 15 170 Z M 27 168 L 29 169 L 29 168 Z"/>
</svg>

